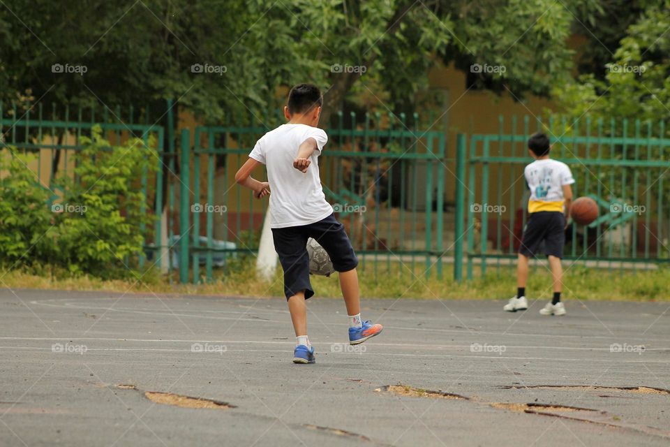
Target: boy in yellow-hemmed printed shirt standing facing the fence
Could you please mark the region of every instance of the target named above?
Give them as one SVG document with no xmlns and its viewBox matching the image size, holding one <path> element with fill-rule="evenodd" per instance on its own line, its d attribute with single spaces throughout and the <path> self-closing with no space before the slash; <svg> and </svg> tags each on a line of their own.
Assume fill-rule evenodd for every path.
<svg viewBox="0 0 670 447">
<path fill-rule="evenodd" d="M 535 133 L 528 140 L 528 153 L 535 159 L 526 166 L 523 175 L 530 189 L 528 200 L 528 222 L 523 230 L 519 258 L 516 263 L 516 296 L 503 307 L 506 311 L 528 309 L 526 279 L 528 258 L 535 256 L 539 244 L 544 242 L 544 254 L 549 258 L 553 278 L 553 300 L 539 311 L 542 315 L 565 315 L 565 306 L 560 302 L 563 290 L 563 258 L 565 228 L 570 217 L 572 186 L 574 179 L 565 163 L 549 158 L 549 138 L 544 133 Z"/>
</svg>

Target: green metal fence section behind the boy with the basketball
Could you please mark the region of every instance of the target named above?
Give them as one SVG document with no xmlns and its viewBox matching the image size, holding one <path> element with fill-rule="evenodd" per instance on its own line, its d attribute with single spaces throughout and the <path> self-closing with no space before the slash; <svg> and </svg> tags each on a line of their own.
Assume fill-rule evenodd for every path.
<svg viewBox="0 0 670 447">
<path fill-rule="evenodd" d="M 574 197 L 590 196 L 600 208 L 590 225 L 567 228 L 566 259 L 609 269 L 670 261 L 670 189 L 664 182 L 670 139 L 663 122 L 513 117 L 505 123 L 500 117 L 499 126 L 496 134 L 470 136 L 468 161 L 457 173 L 464 178 L 467 164 L 461 195 L 467 195 L 468 279 L 477 267 L 484 275 L 516 258 L 527 219 L 523 168 L 532 159 L 526 142 L 535 131 L 549 135 L 551 157 L 572 170 Z M 465 152 L 463 135 L 459 146 Z"/>
</svg>

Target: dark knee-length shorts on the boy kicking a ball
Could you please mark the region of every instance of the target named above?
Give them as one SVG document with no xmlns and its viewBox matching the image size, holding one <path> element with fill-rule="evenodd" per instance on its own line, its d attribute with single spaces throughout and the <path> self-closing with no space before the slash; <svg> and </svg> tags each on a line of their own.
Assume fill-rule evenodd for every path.
<svg viewBox="0 0 670 447">
<path fill-rule="evenodd" d="M 309 225 L 272 228 L 274 249 L 284 270 L 284 294 L 287 300 L 303 290 L 305 298 L 314 295 L 309 282 L 308 237 L 313 237 L 327 251 L 336 272 L 348 272 L 358 265 L 344 226 L 335 219 L 334 214 Z"/>
</svg>

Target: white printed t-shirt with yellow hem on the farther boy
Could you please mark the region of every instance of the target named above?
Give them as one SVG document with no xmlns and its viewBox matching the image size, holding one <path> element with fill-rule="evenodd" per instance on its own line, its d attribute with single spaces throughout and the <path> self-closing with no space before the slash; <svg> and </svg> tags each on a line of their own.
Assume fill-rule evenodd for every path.
<svg viewBox="0 0 670 447">
<path fill-rule="evenodd" d="M 563 186 L 573 184 L 570 168 L 558 160 L 535 160 L 523 170 L 530 189 L 528 212 L 563 212 Z"/>
</svg>

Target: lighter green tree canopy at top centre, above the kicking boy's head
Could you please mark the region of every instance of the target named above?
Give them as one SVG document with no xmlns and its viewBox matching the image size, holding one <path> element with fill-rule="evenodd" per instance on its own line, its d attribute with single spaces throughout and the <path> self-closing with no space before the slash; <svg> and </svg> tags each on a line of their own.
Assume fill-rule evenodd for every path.
<svg viewBox="0 0 670 447">
<path fill-rule="evenodd" d="M 416 92 L 427 87 L 426 73 L 440 60 L 454 61 L 466 72 L 472 64 L 503 66 L 502 73 L 477 73 L 475 82 L 505 93 L 509 89 L 516 97 L 548 95 L 572 68 L 574 53 L 566 40 L 574 14 L 591 20 L 598 10 L 597 3 L 580 0 L 279 3 L 263 21 L 286 25 L 254 27 L 250 40 L 276 36 L 276 45 L 261 57 L 277 51 L 284 64 L 290 62 L 284 82 L 311 80 L 325 86 L 324 122 L 357 95 L 378 98 L 382 110 L 412 112 Z M 292 53 L 282 52 L 285 42 Z"/>
</svg>

